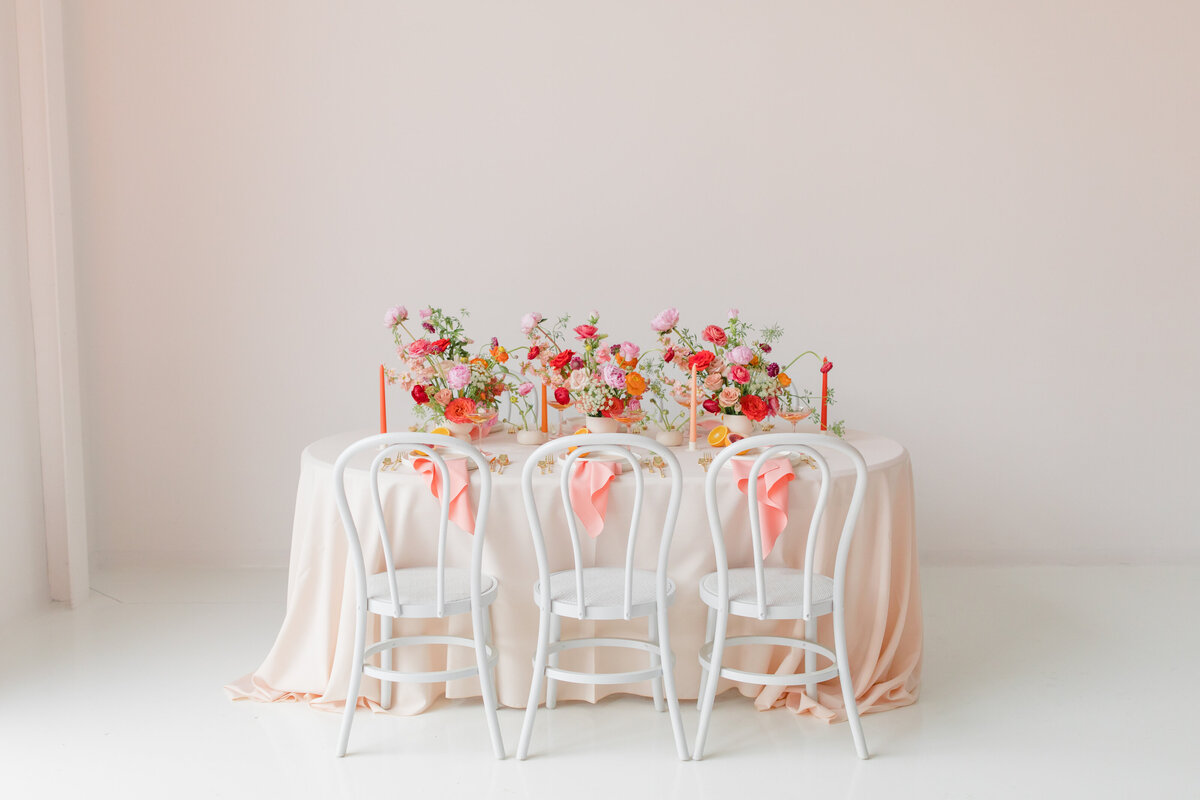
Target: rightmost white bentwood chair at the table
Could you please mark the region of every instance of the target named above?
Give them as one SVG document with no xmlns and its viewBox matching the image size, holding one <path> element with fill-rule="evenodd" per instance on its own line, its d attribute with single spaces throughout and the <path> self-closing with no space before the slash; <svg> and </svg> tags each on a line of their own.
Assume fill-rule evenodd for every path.
<svg viewBox="0 0 1200 800">
<path fill-rule="evenodd" d="M 713 702 L 716 698 L 719 678 L 728 678 L 744 684 L 757 685 L 805 685 L 810 698 L 816 698 L 817 684 L 829 678 L 839 676 L 841 696 L 846 703 L 846 717 L 854 738 L 854 750 L 859 758 L 868 758 L 866 740 L 863 738 L 863 726 L 858 718 L 858 704 L 854 700 L 854 687 L 850 676 L 850 662 L 846 651 L 846 559 L 850 542 L 854 535 L 854 523 L 863 507 L 866 494 L 866 462 L 853 446 L 820 433 L 776 433 L 754 438 L 754 445 L 761 453 L 750 468 L 746 486 L 746 510 L 750 516 L 750 539 L 754 548 L 754 565 L 731 570 L 725 553 L 725 534 L 721 529 L 721 516 L 718 511 L 716 485 L 722 474 L 722 467 L 737 456 L 737 447 L 726 447 L 713 459 L 704 482 L 704 494 L 708 503 L 708 522 L 713 533 L 713 547 L 716 553 L 716 572 L 710 572 L 700 582 L 700 596 L 708 606 L 708 631 L 704 645 L 700 649 L 700 729 L 696 732 L 696 745 L 692 758 L 700 760 L 704 754 L 704 740 L 708 736 L 708 723 L 713 714 Z M 833 578 L 814 572 L 817 536 L 826 503 L 829 499 L 832 474 L 829 463 L 820 450 L 834 450 L 844 453 L 854 465 L 854 492 L 851 495 L 850 510 L 846 513 L 838 542 L 838 555 L 834 561 Z M 817 505 L 809 525 L 809 539 L 804 551 L 804 569 L 790 570 L 782 567 L 764 567 L 762 564 L 762 537 L 758 518 L 758 474 L 763 464 L 793 452 L 811 457 L 821 470 L 821 491 Z M 730 474 L 732 480 L 732 473 Z M 782 536 L 782 534 L 781 534 Z M 817 619 L 833 614 L 834 650 L 817 644 Z M 784 636 L 738 636 L 726 638 L 730 614 L 749 616 L 760 620 L 804 620 L 804 639 Z M 722 667 L 726 646 L 745 644 L 773 644 L 804 650 L 804 672 L 779 675 L 775 673 L 752 673 L 742 669 Z M 830 663 L 821 669 L 815 668 L 817 656 Z"/>
</svg>

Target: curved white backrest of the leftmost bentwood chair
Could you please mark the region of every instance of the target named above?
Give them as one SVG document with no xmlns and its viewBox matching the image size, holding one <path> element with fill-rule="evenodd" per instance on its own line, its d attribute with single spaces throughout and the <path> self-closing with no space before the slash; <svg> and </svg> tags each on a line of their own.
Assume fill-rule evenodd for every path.
<svg viewBox="0 0 1200 800">
<path fill-rule="evenodd" d="M 470 596 L 474 602 L 479 597 L 482 564 L 484 564 L 484 534 L 487 529 L 487 509 L 491 505 L 492 474 L 487 469 L 487 459 L 475 447 L 460 441 L 454 437 L 439 433 L 377 433 L 360 439 L 342 451 L 334 464 L 334 494 L 337 500 L 337 510 L 342 516 L 342 527 L 346 529 L 346 537 L 349 542 L 347 558 L 354 566 L 355 582 L 358 584 L 358 599 L 365 607 L 367 602 L 367 572 L 362 557 L 362 543 L 359 539 L 359 529 L 350 512 L 349 503 L 346 499 L 346 469 L 350 461 L 360 453 L 377 451 L 371 462 L 371 500 L 374 510 L 376 528 L 379 534 L 379 545 L 383 551 L 384 566 L 388 571 L 388 588 L 391 593 L 392 608 L 400 613 L 400 590 L 396 583 L 396 561 L 391 552 L 391 537 L 388 533 L 388 519 L 383 512 L 383 497 L 379 492 L 379 471 L 383 469 L 384 459 L 396 459 L 408 450 L 418 447 L 426 457 L 433 462 L 434 474 L 440 481 L 438 492 L 438 504 L 440 506 L 440 519 L 438 523 L 438 560 L 437 560 L 437 614 L 445 615 L 445 552 L 446 529 L 450 523 L 450 470 L 446 467 L 445 455 L 455 453 L 469 458 L 479 468 L 476 470 L 479 481 L 479 509 L 475 515 L 475 534 L 470 554 Z M 437 449 L 443 452 L 439 452 Z"/>
</svg>

